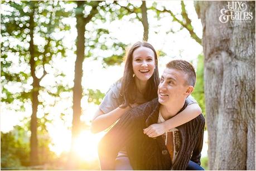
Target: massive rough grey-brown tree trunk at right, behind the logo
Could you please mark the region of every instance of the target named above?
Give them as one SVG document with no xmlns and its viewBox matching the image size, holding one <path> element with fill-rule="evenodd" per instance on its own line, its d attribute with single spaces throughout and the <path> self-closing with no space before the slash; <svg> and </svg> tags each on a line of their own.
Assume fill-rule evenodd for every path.
<svg viewBox="0 0 256 171">
<path fill-rule="evenodd" d="M 255 2 L 247 12 L 255 16 Z M 203 26 L 209 167 L 255 170 L 255 18 L 219 21 L 228 2 L 199 1 Z"/>
</svg>

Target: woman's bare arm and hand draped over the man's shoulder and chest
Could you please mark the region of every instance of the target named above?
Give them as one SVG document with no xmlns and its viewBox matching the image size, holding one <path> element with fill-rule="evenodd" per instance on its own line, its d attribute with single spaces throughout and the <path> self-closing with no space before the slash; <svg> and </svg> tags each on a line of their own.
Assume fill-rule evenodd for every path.
<svg viewBox="0 0 256 171">
<path fill-rule="evenodd" d="M 172 118 L 166 120 L 161 124 L 152 124 L 148 128 L 144 129 L 144 134 L 147 134 L 149 137 L 154 138 L 160 136 L 166 131 L 176 128 L 182 124 L 185 124 L 192 119 L 196 118 L 202 113 L 200 106 L 197 103 L 187 106 L 183 111 L 173 116 Z"/>
</svg>

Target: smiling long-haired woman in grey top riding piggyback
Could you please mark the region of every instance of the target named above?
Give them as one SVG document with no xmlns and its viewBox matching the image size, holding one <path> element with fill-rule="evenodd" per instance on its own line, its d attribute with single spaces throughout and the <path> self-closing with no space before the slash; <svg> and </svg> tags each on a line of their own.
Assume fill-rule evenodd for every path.
<svg viewBox="0 0 256 171">
<path fill-rule="evenodd" d="M 147 42 L 137 42 L 128 51 L 124 75 L 105 95 L 91 123 L 91 131 L 98 133 L 113 125 L 125 112 L 157 97 L 160 83 L 157 54 Z M 149 137 L 156 137 L 176 128 L 201 114 L 201 108 L 191 96 L 189 104 L 180 114 L 162 124 L 153 124 L 144 130 Z M 125 148 L 118 153 L 116 170 L 132 170 Z"/>
</svg>

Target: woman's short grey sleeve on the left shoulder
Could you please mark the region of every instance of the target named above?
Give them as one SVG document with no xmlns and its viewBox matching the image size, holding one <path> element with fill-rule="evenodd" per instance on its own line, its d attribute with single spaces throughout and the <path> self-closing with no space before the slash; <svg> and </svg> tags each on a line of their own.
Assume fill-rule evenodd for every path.
<svg viewBox="0 0 256 171">
<path fill-rule="evenodd" d="M 99 105 L 99 109 L 102 110 L 103 113 L 109 113 L 120 105 L 118 100 L 119 92 L 120 91 L 117 84 L 114 84 L 110 87 L 101 104 Z"/>
</svg>

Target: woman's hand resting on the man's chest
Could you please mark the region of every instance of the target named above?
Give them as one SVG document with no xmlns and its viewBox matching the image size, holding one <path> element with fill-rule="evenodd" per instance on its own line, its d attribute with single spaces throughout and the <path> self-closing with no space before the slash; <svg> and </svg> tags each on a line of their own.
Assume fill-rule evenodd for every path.
<svg viewBox="0 0 256 171">
<path fill-rule="evenodd" d="M 165 133 L 165 125 L 163 123 L 161 124 L 152 124 L 148 126 L 148 128 L 143 129 L 143 133 L 147 134 L 150 138 L 155 138 L 157 136 L 162 135 Z"/>
</svg>

